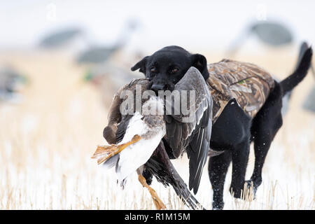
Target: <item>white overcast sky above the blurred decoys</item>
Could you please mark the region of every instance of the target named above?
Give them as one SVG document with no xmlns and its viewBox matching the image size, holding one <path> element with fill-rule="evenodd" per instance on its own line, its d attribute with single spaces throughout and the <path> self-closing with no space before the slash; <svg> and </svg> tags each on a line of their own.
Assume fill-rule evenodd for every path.
<svg viewBox="0 0 315 224">
<path fill-rule="evenodd" d="M 165 45 L 227 48 L 252 21 L 290 27 L 295 43 L 315 43 L 315 1 L 0 1 L 0 49 L 30 48 L 60 27 L 82 27 L 94 43 L 110 45 L 128 18 L 141 21 L 129 43 L 152 52 Z M 314 44 L 313 44 L 314 45 Z"/>
</svg>

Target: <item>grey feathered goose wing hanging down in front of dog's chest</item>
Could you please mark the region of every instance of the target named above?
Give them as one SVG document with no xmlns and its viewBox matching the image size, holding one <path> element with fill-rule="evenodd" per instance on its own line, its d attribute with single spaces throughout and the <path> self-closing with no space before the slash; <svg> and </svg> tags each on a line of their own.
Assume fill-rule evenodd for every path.
<svg viewBox="0 0 315 224">
<path fill-rule="evenodd" d="M 176 91 L 177 92 L 176 92 Z M 179 103 L 179 102 L 180 103 Z M 197 193 L 211 139 L 212 97 L 202 74 L 190 67 L 165 100 L 165 139 L 175 158 L 186 149 L 189 188 Z"/>
</svg>

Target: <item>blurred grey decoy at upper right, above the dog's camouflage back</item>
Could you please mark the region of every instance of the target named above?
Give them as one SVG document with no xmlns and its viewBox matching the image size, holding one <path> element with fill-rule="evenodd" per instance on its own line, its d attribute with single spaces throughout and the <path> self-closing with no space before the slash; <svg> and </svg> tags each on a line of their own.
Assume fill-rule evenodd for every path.
<svg viewBox="0 0 315 224">
<path fill-rule="evenodd" d="M 266 43 L 272 47 L 281 47 L 293 42 L 293 34 L 288 27 L 279 22 L 262 21 L 255 22 L 246 29 L 232 42 L 228 49 L 228 55 L 235 55 L 241 45 L 254 34 L 262 43 Z"/>
</svg>

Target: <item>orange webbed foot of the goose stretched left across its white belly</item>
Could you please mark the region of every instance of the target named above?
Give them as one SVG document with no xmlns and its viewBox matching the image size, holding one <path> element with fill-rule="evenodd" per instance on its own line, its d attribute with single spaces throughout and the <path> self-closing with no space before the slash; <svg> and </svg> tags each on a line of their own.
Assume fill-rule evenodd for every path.
<svg viewBox="0 0 315 224">
<path fill-rule="evenodd" d="M 127 146 L 130 146 L 131 144 L 136 143 L 139 141 L 141 137 L 139 137 L 138 134 L 136 134 L 131 141 L 128 141 L 125 144 L 111 144 L 111 146 L 97 146 L 97 150 L 92 155 L 92 159 L 97 159 L 97 165 L 101 164 L 105 160 L 113 157 L 114 155 L 117 155 L 121 151 L 123 151 Z"/>
</svg>

